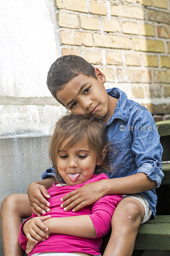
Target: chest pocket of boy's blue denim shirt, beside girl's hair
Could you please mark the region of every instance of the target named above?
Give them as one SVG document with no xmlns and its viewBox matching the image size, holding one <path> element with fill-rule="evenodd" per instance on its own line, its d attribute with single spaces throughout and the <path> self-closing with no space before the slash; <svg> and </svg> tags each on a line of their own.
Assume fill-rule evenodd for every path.
<svg viewBox="0 0 170 256">
<path fill-rule="evenodd" d="M 113 149 L 112 152 L 109 152 L 109 161 L 112 176 L 127 176 L 137 167 L 135 163 L 135 156 L 131 150 L 131 138 L 116 143 L 111 142 L 110 146 Z"/>
</svg>

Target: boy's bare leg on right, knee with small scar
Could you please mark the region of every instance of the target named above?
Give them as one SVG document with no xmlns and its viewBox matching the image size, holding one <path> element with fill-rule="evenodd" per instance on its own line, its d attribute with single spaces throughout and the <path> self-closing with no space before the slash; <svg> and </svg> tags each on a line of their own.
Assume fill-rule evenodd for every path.
<svg viewBox="0 0 170 256">
<path fill-rule="evenodd" d="M 135 198 L 124 198 L 112 217 L 112 234 L 103 256 L 131 256 L 137 230 L 144 218 L 143 204 Z"/>
</svg>

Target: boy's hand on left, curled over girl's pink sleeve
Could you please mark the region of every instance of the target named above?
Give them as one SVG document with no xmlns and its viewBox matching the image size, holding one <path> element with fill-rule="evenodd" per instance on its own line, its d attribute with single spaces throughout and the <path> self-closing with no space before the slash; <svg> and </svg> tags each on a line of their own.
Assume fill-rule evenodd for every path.
<svg viewBox="0 0 170 256">
<path fill-rule="evenodd" d="M 48 201 L 41 195 L 43 194 L 46 198 L 50 198 L 48 191 L 43 185 L 32 182 L 27 190 L 29 202 L 31 205 L 31 210 L 36 216 L 41 216 L 45 212 L 50 212 L 48 208 L 50 204 Z"/>
</svg>

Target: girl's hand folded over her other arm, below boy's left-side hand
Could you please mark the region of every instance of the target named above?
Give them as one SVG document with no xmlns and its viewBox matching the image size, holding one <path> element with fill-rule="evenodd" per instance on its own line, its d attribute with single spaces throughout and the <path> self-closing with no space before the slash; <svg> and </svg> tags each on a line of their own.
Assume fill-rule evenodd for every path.
<svg viewBox="0 0 170 256">
<path fill-rule="evenodd" d="M 50 219 L 51 216 L 42 216 L 42 217 L 35 217 L 32 219 L 27 220 L 23 227 L 22 232 L 26 235 L 26 238 L 35 245 L 38 241 L 45 241 L 48 236 L 48 227 L 45 226 L 42 222 L 44 220 Z M 50 233 L 49 233 L 50 234 Z"/>
</svg>

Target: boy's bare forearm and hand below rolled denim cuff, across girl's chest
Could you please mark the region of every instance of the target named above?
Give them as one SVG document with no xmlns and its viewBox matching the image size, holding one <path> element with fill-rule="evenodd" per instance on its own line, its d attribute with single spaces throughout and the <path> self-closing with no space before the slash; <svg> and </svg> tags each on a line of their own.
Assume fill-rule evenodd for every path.
<svg viewBox="0 0 170 256">
<path fill-rule="evenodd" d="M 61 199 L 62 202 L 66 200 L 61 207 L 65 208 L 64 211 L 69 211 L 73 208 L 74 212 L 77 212 L 87 205 L 94 204 L 105 195 L 134 194 L 148 191 L 155 187 L 156 181 L 150 180 L 143 172 L 122 178 L 99 180 L 85 184 L 81 188 L 68 193 Z"/>
</svg>

